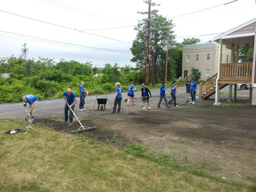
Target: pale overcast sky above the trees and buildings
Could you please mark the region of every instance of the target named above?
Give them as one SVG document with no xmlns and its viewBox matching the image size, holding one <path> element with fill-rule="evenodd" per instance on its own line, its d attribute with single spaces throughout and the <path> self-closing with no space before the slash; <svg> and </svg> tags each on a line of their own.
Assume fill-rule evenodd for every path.
<svg viewBox="0 0 256 192">
<path fill-rule="evenodd" d="M 145 1 L 145 0 L 144 0 Z M 0 2 L 0 58 L 64 59 L 104 67 L 130 65 L 134 26 L 147 14 L 143 0 L 8 0 Z M 147 1 L 147 0 L 146 0 Z M 212 40 L 256 18 L 255 0 L 156 0 L 152 9 L 172 19 L 176 41 Z M 160 5 L 159 5 L 160 4 Z"/>
</svg>

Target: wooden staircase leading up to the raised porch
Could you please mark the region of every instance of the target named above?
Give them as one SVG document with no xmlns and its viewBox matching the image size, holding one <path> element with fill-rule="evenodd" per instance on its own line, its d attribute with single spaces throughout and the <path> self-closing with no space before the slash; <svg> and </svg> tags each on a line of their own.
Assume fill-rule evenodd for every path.
<svg viewBox="0 0 256 192">
<path fill-rule="evenodd" d="M 209 97 L 216 92 L 216 78 L 218 73 L 213 75 L 213 77 L 209 78 L 203 83 L 200 83 L 200 91 L 198 98 L 199 99 L 209 99 Z M 220 84 L 220 89 L 226 87 L 228 84 Z"/>
</svg>

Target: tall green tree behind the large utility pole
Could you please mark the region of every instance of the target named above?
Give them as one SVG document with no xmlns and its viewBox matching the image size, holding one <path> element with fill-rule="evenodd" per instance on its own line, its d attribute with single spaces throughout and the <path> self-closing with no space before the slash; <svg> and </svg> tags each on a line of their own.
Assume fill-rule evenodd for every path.
<svg viewBox="0 0 256 192">
<path fill-rule="evenodd" d="M 168 20 L 163 16 L 159 16 L 154 13 L 151 15 L 151 36 L 149 47 L 149 67 L 155 72 L 159 82 L 162 82 L 165 78 L 165 66 L 166 66 L 166 41 L 169 37 L 169 46 L 173 46 L 174 41 L 174 24 L 172 20 Z M 147 22 L 139 21 L 134 28 L 137 31 L 136 39 L 132 43 L 132 59 L 131 61 L 136 63 L 139 68 L 146 67 L 146 51 L 147 51 Z M 154 77 L 153 77 L 154 78 Z M 152 80 L 154 82 L 154 79 Z"/>
</svg>

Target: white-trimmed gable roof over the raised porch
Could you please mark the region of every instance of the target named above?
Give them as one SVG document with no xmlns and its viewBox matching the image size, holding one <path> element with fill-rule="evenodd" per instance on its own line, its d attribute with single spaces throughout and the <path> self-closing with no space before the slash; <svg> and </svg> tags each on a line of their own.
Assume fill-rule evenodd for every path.
<svg viewBox="0 0 256 192">
<path fill-rule="evenodd" d="M 221 35 L 213 38 L 214 41 L 219 42 L 223 40 L 225 45 L 253 45 L 256 31 L 256 18 L 247 21 L 246 23 L 240 24 L 239 26 L 221 33 Z"/>
</svg>

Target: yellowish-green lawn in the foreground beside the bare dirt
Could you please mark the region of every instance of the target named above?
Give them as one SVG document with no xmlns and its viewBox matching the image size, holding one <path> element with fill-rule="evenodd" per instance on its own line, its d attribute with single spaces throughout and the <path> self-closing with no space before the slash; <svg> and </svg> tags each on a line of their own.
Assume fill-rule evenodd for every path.
<svg viewBox="0 0 256 192">
<path fill-rule="evenodd" d="M 0 191 L 253 191 L 178 166 L 169 154 L 148 154 L 125 144 L 125 151 L 78 134 L 55 132 L 23 120 L 0 119 Z M 4 134 L 24 129 L 18 134 Z M 114 134 L 113 139 L 117 138 Z M 185 159 L 186 156 L 184 156 Z M 200 163 L 200 168 L 204 163 Z M 248 176 L 255 179 L 254 176 Z"/>
</svg>

